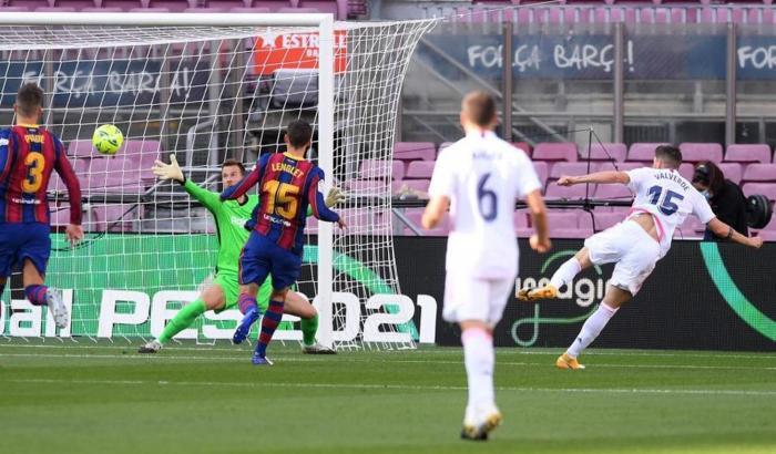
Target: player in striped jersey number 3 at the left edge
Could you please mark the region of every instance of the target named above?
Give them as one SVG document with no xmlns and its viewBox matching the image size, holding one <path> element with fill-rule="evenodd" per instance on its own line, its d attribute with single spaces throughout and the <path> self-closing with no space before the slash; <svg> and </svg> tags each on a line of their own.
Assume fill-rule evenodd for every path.
<svg viewBox="0 0 776 454">
<path fill-rule="evenodd" d="M 68 309 L 59 292 L 43 283 L 51 254 L 49 199 L 45 189 L 55 171 L 68 187 L 71 244 L 83 237 L 81 187 L 59 137 L 38 124 L 43 91 L 34 83 L 19 89 L 13 111 L 17 123 L 0 131 L 0 295 L 11 269 L 21 265 L 24 296 L 49 306 L 59 328 L 68 326 Z"/>
</svg>

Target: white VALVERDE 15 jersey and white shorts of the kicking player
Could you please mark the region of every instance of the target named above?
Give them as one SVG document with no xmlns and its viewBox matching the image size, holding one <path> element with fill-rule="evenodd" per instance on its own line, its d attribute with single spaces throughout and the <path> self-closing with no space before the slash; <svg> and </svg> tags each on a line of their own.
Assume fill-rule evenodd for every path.
<svg viewBox="0 0 776 454">
<path fill-rule="evenodd" d="M 707 224 L 714 219 L 706 198 L 674 169 L 636 168 L 627 172 L 629 189 L 635 195 L 627 218 L 584 241 L 594 265 L 616 262 L 611 283 L 636 295 L 671 249 L 674 230 L 693 214 Z M 660 241 L 629 219 L 649 213 L 655 219 Z"/>
</svg>

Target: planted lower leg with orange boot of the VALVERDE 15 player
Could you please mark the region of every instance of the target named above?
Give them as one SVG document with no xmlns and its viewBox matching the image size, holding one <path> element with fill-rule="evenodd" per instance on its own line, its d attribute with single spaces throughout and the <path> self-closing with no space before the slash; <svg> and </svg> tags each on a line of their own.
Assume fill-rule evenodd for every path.
<svg viewBox="0 0 776 454">
<path fill-rule="evenodd" d="M 609 286 L 603 301 L 601 301 L 595 312 L 584 322 L 582 330 L 580 330 L 580 333 L 576 336 L 571 347 L 569 347 L 569 350 L 558 358 L 555 365 L 559 369 L 584 369 L 584 365 L 576 361 L 576 357 L 599 337 L 603 328 L 609 323 L 609 320 L 611 320 L 620 307 L 630 299 L 630 291 Z"/>
</svg>

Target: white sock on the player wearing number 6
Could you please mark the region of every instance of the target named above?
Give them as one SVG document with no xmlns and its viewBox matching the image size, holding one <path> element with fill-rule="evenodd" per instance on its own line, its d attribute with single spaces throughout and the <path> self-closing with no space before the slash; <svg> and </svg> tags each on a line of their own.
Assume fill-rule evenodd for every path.
<svg viewBox="0 0 776 454">
<path fill-rule="evenodd" d="M 461 333 L 463 363 L 469 381 L 469 409 L 496 405 L 493 396 L 493 337 L 480 328 Z"/>
</svg>

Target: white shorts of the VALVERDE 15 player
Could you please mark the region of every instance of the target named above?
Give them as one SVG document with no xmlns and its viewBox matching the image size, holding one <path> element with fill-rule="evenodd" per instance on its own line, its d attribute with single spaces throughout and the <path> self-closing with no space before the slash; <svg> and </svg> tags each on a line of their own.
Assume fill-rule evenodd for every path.
<svg viewBox="0 0 776 454">
<path fill-rule="evenodd" d="M 593 235 L 584 246 L 594 265 L 616 262 L 610 283 L 634 296 L 660 260 L 660 244 L 630 220 Z"/>
</svg>

